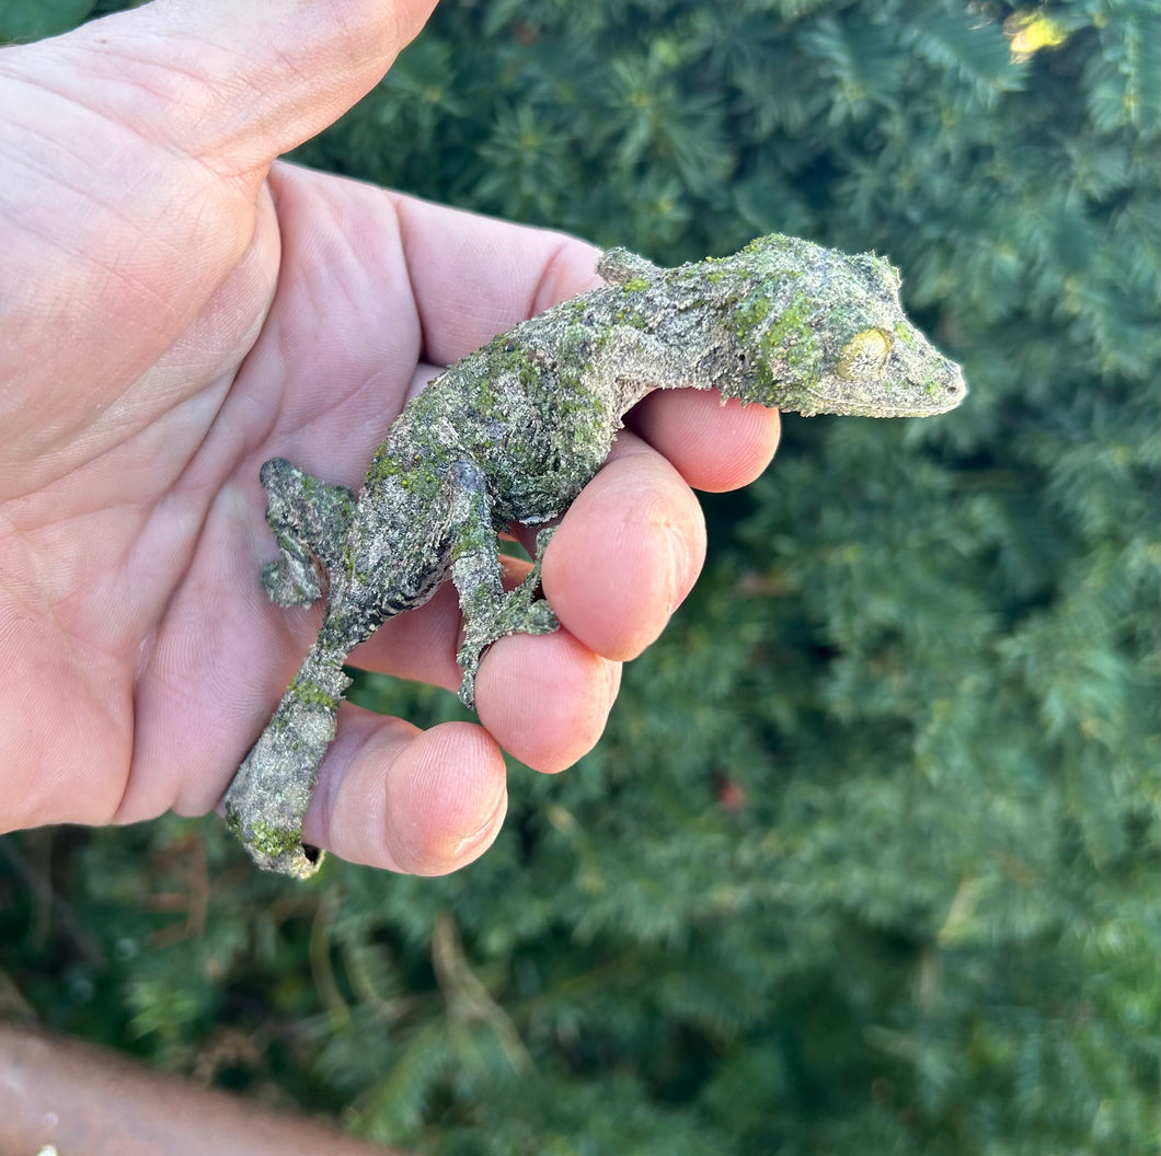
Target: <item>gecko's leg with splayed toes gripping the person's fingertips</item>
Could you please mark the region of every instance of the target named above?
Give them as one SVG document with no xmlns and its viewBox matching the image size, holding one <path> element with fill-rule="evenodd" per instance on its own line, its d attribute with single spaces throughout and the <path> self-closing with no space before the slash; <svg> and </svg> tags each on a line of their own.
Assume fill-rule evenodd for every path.
<svg viewBox="0 0 1161 1156">
<path fill-rule="evenodd" d="M 474 462 L 456 462 L 448 536 L 452 581 L 463 612 L 463 645 L 456 660 L 463 674 L 460 699 L 464 706 L 475 706 L 479 659 L 497 638 L 509 634 L 551 634 L 560 626 L 548 602 L 535 597 L 541 559 L 553 533 L 554 528 L 548 527 L 540 530 L 536 558 L 528 576 L 515 590 L 504 590 L 488 483 Z"/>
</svg>

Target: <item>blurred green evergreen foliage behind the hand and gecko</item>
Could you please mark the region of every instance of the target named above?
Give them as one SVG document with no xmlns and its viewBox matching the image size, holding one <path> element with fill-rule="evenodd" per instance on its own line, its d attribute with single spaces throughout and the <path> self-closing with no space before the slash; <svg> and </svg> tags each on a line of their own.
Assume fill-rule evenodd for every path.
<svg viewBox="0 0 1161 1156">
<path fill-rule="evenodd" d="M 972 396 L 788 418 L 604 743 L 514 765 L 452 877 L 261 876 L 214 817 L 0 839 L 7 1002 L 431 1154 L 1155 1153 L 1159 32 L 445 0 L 303 162 L 664 262 L 887 253 Z"/>
</svg>

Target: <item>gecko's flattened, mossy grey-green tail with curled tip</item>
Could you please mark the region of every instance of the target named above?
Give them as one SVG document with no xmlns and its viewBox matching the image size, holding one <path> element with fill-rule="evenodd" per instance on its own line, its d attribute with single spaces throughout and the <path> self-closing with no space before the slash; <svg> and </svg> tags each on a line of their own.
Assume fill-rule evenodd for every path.
<svg viewBox="0 0 1161 1156">
<path fill-rule="evenodd" d="M 349 685 L 341 659 L 316 645 L 233 776 L 226 824 L 262 870 L 296 879 L 318 870 L 323 852 L 303 844 L 302 819 Z"/>
</svg>

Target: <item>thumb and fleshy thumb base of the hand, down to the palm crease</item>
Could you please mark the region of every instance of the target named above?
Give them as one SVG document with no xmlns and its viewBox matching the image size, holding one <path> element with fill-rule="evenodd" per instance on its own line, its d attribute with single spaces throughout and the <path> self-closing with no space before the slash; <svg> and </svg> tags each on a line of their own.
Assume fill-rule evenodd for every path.
<svg viewBox="0 0 1161 1156">
<path fill-rule="evenodd" d="M 368 92 L 434 6 L 153 0 L 0 49 L 0 493 L 23 492 L 5 467 L 62 453 L 59 474 L 174 404 L 114 402 L 182 334 L 202 342 L 183 388 L 223 371 L 276 279 L 271 162 Z M 80 447 L 98 421 L 104 440 Z"/>
</svg>

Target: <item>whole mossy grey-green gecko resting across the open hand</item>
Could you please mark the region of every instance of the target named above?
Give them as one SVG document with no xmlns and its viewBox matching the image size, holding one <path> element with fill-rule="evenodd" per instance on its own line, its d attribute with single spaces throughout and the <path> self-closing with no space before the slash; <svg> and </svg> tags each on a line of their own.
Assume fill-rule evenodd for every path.
<svg viewBox="0 0 1161 1156">
<path fill-rule="evenodd" d="M 650 390 L 716 389 L 798 413 L 924 417 L 966 396 L 959 366 L 908 321 L 899 273 L 773 234 L 733 257 L 663 269 L 625 250 L 606 284 L 522 321 L 446 369 L 388 432 L 355 494 L 275 458 L 261 470 L 280 552 L 262 581 L 281 606 L 326 595 L 318 637 L 225 796 L 231 829 L 268 870 L 307 876 L 302 817 L 334 737 L 347 655 L 387 619 L 459 592 L 460 698 L 506 634 L 557 622 L 536 564 L 500 585 L 497 530 L 557 518 Z"/>
</svg>

